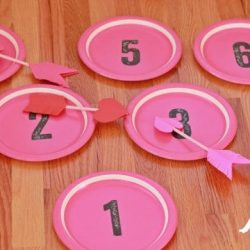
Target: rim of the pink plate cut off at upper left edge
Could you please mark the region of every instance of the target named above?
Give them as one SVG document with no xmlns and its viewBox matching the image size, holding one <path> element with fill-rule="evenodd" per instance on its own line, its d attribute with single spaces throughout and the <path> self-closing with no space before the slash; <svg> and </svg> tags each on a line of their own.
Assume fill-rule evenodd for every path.
<svg viewBox="0 0 250 250">
<path fill-rule="evenodd" d="M 4 25 L 0 25 L 0 30 L 4 30 L 15 39 L 19 47 L 19 55 L 17 59 L 24 60 L 26 55 L 25 46 L 23 40 L 19 37 L 19 35 Z M 12 63 L 11 65 L 9 65 L 9 67 L 4 72 L 0 73 L 0 82 L 14 75 L 21 67 L 22 65 L 18 63 Z"/>
</svg>

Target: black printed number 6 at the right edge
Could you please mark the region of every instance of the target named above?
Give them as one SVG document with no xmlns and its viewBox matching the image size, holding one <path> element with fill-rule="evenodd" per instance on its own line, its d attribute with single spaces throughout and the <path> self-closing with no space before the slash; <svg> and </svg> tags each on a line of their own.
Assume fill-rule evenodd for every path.
<svg viewBox="0 0 250 250">
<path fill-rule="evenodd" d="M 243 49 L 248 51 L 243 51 Z M 238 65 L 243 68 L 250 68 L 250 44 L 237 42 L 233 44 L 233 50 Z"/>
</svg>

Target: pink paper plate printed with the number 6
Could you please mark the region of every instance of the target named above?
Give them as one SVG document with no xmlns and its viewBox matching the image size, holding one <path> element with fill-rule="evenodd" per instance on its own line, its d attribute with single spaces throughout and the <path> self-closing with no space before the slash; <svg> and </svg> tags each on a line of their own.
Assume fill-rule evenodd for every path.
<svg viewBox="0 0 250 250">
<path fill-rule="evenodd" d="M 194 55 L 211 74 L 226 81 L 250 84 L 250 20 L 227 20 L 203 30 Z"/>
</svg>

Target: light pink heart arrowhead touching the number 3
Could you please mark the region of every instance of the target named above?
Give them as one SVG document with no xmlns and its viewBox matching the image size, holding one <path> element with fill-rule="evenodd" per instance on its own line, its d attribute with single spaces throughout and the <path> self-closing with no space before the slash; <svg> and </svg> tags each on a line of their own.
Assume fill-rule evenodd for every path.
<svg viewBox="0 0 250 250">
<path fill-rule="evenodd" d="M 183 125 L 175 118 L 156 116 L 154 120 L 154 127 L 163 133 L 171 133 L 174 128 L 182 129 Z"/>
</svg>

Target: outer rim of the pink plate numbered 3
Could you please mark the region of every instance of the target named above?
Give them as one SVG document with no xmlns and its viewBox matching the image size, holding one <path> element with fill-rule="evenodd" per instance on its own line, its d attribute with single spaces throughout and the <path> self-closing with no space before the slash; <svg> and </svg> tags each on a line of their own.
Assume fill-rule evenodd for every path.
<svg viewBox="0 0 250 250">
<path fill-rule="evenodd" d="M 140 136 L 138 136 L 138 133 L 136 133 L 136 131 L 133 128 L 132 125 L 132 118 L 131 118 L 131 114 L 132 111 L 134 109 L 134 106 L 138 103 L 138 101 L 154 92 L 157 90 L 161 90 L 161 89 L 165 89 L 165 88 L 175 88 L 175 87 L 182 87 L 182 88 L 188 88 L 188 89 L 195 89 L 195 90 L 199 90 L 202 92 L 205 92 L 207 94 L 209 94 L 210 96 L 216 98 L 217 100 L 219 100 L 219 102 L 226 108 L 228 114 L 229 114 L 229 118 L 230 118 L 230 128 L 229 128 L 229 133 L 227 134 L 227 137 L 222 140 L 219 144 L 217 143 L 216 145 L 214 145 L 214 148 L 217 149 L 223 149 L 226 146 L 228 146 L 233 138 L 236 135 L 236 131 L 237 131 L 237 119 L 236 119 L 236 115 L 231 107 L 231 105 L 219 94 L 217 94 L 216 92 L 207 89 L 205 87 L 201 87 L 198 85 L 194 85 L 191 83 L 164 83 L 161 85 L 156 85 L 154 87 L 148 88 L 142 92 L 140 92 L 137 96 L 135 96 L 128 104 L 127 106 L 127 110 L 129 115 L 126 116 L 125 121 L 124 121 L 124 127 L 125 130 L 127 131 L 128 136 L 130 137 L 130 139 L 137 144 L 140 148 L 142 148 L 143 150 L 164 158 L 164 159 L 169 159 L 169 160 L 178 160 L 178 161 L 190 161 L 190 160 L 199 160 L 199 159 L 203 159 L 206 158 L 207 153 L 204 150 L 201 151 L 197 151 L 197 152 L 193 152 L 193 153 L 179 153 L 179 156 L 176 157 L 176 153 L 173 152 L 166 152 L 164 150 L 161 149 L 157 149 L 155 148 L 153 145 L 149 144 L 149 143 L 145 143 L 145 140 L 143 140 Z M 141 143 L 141 144 L 140 144 Z"/>
</svg>

